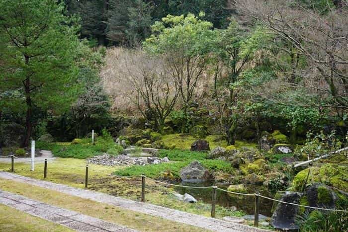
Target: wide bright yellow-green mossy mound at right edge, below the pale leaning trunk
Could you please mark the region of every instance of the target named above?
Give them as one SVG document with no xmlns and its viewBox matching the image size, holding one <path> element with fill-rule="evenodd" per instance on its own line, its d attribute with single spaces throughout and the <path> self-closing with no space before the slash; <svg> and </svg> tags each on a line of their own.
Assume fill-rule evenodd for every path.
<svg viewBox="0 0 348 232">
<path fill-rule="evenodd" d="M 292 181 L 291 188 L 295 191 L 301 191 L 305 184 L 309 168 L 306 168 L 297 173 Z M 324 183 L 343 191 L 348 191 L 348 167 L 328 163 L 321 167 L 311 167 L 311 174 L 307 184 L 311 182 Z"/>
</svg>

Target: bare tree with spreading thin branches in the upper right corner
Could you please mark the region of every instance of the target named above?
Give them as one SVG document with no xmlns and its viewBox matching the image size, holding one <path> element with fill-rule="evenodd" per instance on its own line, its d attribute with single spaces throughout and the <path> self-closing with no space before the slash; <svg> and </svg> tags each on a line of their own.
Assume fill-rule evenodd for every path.
<svg viewBox="0 0 348 232">
<path fill-rule="evenodd" d="M 329 104 L 319 107 L 348 109 L 348 10 L 347 1 L 336 7 L 327 4 L 326 11 L 300 1 L 231 0 L 244 19 L 256 19 L 290 46 L 281 46 L 291 57 L 302 81 L 295 83 L 293 74 L 286 87 L 306 88 L 320 96 L 330 96 Z M 298 66 L 304 58 L 306 65 Z M 323 99 L 323 98 L 322 98 Z"/>
</svg>

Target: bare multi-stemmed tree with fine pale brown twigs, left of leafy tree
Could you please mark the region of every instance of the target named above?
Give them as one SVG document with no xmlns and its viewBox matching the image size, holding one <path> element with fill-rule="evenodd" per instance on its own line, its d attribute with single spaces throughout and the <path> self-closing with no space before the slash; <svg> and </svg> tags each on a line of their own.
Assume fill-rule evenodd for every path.
<svg viewBox="0 0 348 232">
<path fill-rule="evenodd" d="M 129 87 L 133 89 L 133 93 L 128 95 L 129 99 L 136 104 L 147 122 L 163 133 L 165 120 L 174 109 L 180 89 L 163 59 L 149 57 L 140 49 L 124 49 L 115 66 L 118 72 L 114 81 L 121 82 L 127 92 Z"/>
</svg>

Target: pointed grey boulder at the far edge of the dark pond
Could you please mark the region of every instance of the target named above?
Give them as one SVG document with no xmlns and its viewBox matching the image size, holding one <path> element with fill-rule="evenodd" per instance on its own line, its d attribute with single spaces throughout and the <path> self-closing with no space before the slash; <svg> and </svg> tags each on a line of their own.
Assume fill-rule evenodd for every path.
<svg viewBox="0 0 348 232">
<path fill-rule="evenodd" d="M 210 179 L 209 171 L 197 160 L 192 161 L 180 171 L 180 178 L 184 182 L 199 183 Z"/>
</svg>

